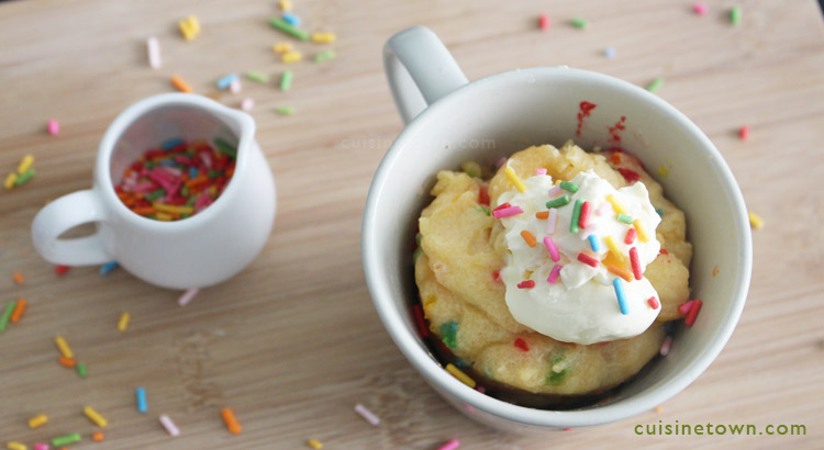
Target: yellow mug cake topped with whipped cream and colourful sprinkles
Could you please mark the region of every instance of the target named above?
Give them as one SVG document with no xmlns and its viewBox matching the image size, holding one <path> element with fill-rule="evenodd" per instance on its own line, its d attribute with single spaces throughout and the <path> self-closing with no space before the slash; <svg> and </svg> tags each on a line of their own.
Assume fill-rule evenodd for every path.
<svg viewBox="0 0 824 450">
<path fill-rule="evenodd" d="M 602 395 L 659 352 L 668 322 L 693 315 L 679 311 L 684 214 L 634 156 L 570 140 L 494 173 L 464 169 L 437 173 L 419 218 L 419 319 L 490 394 L 541 406 Z"/>
</svg>

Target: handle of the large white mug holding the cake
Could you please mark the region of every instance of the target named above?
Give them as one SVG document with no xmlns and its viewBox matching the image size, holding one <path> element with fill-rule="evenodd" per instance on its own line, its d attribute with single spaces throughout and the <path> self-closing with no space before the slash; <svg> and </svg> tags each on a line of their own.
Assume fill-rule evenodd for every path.
<svg viewBox="0 0 824 450">
<path fill-rule="evenodd" d="M 387 41 L 383 69 L 403 123 L 468 82 L 444 43 L 425 26 L 409 27 Z"/>
</svg>

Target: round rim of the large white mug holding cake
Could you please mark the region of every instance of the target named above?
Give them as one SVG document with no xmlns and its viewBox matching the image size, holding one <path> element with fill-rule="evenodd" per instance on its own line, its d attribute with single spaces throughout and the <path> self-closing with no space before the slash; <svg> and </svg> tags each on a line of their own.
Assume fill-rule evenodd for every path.
<svg viewBox="0 0 824 450">
<path fill-rule="evenodd" d="M 591 409 L 546 410 L 528 408 L 482 394 L 466 386 L 452 376 L 430 357 L 430 353 L 422 346 L 419 345 L 417 339 L 414 336 L 414 330 L 407 328 L 404 325 L 401 311 L 392 303 L 392 290 L 387 277 L 382 275 L 383 270 L 378 257 L 379 243 L 375 241 L 376 234 L 374 233 L 374 229 L 376 228 L 375 223 L 378 221 L 377 202 L 381 195 L 383 185 L 391 182 L 389 179 L 389 167 L 393 165 L 393 161 L 398 158 L 402 148 L 407 147 L 408 142 L 412 140 L 419 134 L 420 130 L 424 126 L 424 122 L 426 122 L 430 116 L 438 114 L 439 111 L 444 109 L 445 104 L 458 102 L 471 97 L 472 91 L 480 85 L 489 82 L 505 82 L 508 78 L 516 77 L 519 74 L 533 76 L 535 78 L 557 77 L 561 74 L 574 76 L 578 80 L 599 83 L 609 89 L 623 91 L 626 94 L 639 98 L 641 101 L 647 102 L 650 106 L 656 109 L 656 113 L 664 114 L 676 121 L 679 124 L 679 127 L 683 128 L 697 139 L 703 155 L 709 157 L 711 165 L 717 171 L 715 176 L 721 178 L 726 194 L 730 195 L 734 206 L 734 211 L 732 211 L 732 225 L 733 229 L 736 232 L 736 246 L 739 251 L 741 265 L 736 267 L 737 273 L 733 281 L 735 284 L 735 294 L 730 299 L 730 314 L 719 326 L 715 336 L 713 336 L 706 347 L 702 349 L 701 355 L 695 359 L 693 364 L 677 372 L 660 386 L 650 387 L 638 392 L 633 396 L 623 398 L 620 402 L 599 405 Z M 428 383 L 432 383 L 436 387 L 436 391 L 441 391 L 438 393 L 447 392 L 459 401 L 495 417 L 525 425 L 553 428 L 600 425 L 635 416 L 644 410 L 660 405 L 668 398 L 678 394 L 703 373 L 726 346 L 726 342 L 730 340 L 730 337 L 737 326 L 744 308 L 751 277 L 751 238 L 746 216 L 746 206 L 744 204 L 741 189 L 735 181 L 732 170 L 722 158 L 720 151 L 698 125 L 692 123 L 692 121 L 690 121 L 682 112 L 660 99 L 658 95 L 620 78 L 591 70 L 568 68 L 566 66 L 515 69 L 471 80 L 461 86 L 424 109 L 415 119 L 407 124 L 394 139 L 372 177 L 372 182 L 369 187 L 369 192 L 366 199 L 361 229 L 364 274 L 375 308 L 378 312 L 378 316 L 385 328 L 392 338 L 392 341 L 401 350 L 409 362 L 421 372 L 425 380 Z M 378 277 L 379 273 L 381 277 Z"/>
</svg>

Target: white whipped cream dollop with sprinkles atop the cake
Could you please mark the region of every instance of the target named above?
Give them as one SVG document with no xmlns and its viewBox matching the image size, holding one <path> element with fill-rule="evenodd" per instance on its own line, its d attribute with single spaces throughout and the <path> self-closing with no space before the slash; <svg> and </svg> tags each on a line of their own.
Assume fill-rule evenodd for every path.
<svg viewBox="0 0 824 450">
<path fill-rule="evenodd" d="M 653 284 L 635 275 L 638 271 L 643 274 L 660 250 L 655 236 L 660 216 L 646 187 L 636 182 L 615 189 L 591 170 L 563 187 L 566 189 L 556 187 L 547 175 L 536 175 L 523 180 L 523 192 L 513 189 L 498 199 L 497 206 L 509 203 L 523 210 L 501 217 L 510 251 L 500 275 L 512 316 L 565 342 L 589 345 L 644 333 L 660 312 Z M 547 206 L 548 201 L 564 203 L 563 195 L 568 203 Z M 589 203 L 583 206 L 589 209 L 584 227 L 570 227 L 577 201 Z M 547 211 L 549 216 L 543 218 Z M 628 238 L 632 244 L 626 244 Z M 637 251 L 635 268 L 630 256 L 633 247 L 633 252 Z M 619 291 L 625 297 L 623 305 Z"/>
</svg>

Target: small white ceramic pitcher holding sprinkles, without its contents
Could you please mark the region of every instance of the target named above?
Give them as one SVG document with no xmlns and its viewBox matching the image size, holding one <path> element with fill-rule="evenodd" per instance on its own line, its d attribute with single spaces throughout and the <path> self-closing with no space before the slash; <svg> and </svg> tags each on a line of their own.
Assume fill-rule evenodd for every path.
<svg viewBox="0 0 824 450">
<path fill-rule="evenodd" d="M 100 143 L 92 189 L 62 196 L 34 217 L 34 247 L 56 265 L 116 261 L 164 288 L 204 288 L 233 277 L 260 252 L 275 220 L 275 180 L 254 135 L 252 116 L 200 95 L 166 93 L 131 105 Z M 135 214 L 118 199 L 114 185 L 145 150 L 170 138 L 215 137 L 237 144 L 235 171 L 223 193 L 200 213 L 159 222 Z M 96 224 L 91 236 L 59 238 L 86 223 Z"/>
</svg>

